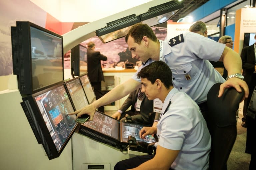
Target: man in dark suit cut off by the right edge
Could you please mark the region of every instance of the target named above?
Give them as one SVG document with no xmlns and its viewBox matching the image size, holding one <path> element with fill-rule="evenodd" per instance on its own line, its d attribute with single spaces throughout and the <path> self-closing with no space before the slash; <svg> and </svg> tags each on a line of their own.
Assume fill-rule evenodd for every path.
<svg viewBox="0 0 256 170">
<path fill-rule="evenodd" d="M 256 39 L 256 35 L 254 36 Z M 244 47 L 241 52 L 241 59 L 242 59 L 242 69 L 243 69 L 243 76 L 244 80 L 249 87 L 249 96 L 244 100 L 244 108 L 243 108 L 243 118 L 242 118 L 242 126 L 246 127 L 246 112 L 252 97 L 252 92 L 256 85 L 256 73 L 255 71 L 255 43 L 251 46 Z"/>
</svg>

